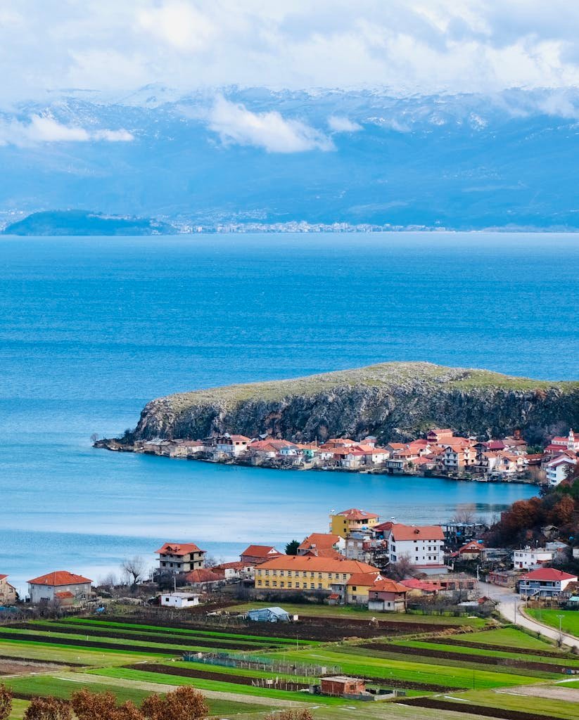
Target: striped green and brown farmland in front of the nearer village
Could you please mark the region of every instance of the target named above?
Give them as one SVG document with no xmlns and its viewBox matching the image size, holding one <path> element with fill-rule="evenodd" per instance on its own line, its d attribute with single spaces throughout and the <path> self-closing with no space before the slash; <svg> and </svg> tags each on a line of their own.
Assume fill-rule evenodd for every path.
<svg viewBox="0 0 579 720">
<path fill-rule="evenodd" d="M 402 616 L 376 626 L 359 616 L 330 618 L 319 612 L 299 624 L 218 629 L 194 616 L 190 624 L 174 625 L 110 617 L 32 621 L 0 627 L 0 682 L 18 699 L 14 720 L 33 695 L 66 698 L 90 687 L 139 703 L 148 693 L 178 685 L 202 690 L 212 713 L 221 717 L 260 720 L 271 708 L 297 703 L 314 708 L 316 720 L 347 720 L 358 701 L 308 693 L 319 680 L 300 675 L 300 668 L 314 666 L 403 693 L 394 702 L 360 706 L 371 719 L 416 717 L 413 703 L 419 703 L 420 716 L 433 720 L 502 718 L 509 712 L 513 720 L 579 720 L 569 696 L 577 693 L 579 701 L 579 683 L 569 683 L 564 698 L 541 690 L 559 687 L 568 677 L 565 670 L 579 672 L 579 658 L 512 627 L 483 630 L 477 621 L 473 629 L 479 631 L 452 634 L 462 624 L 449 627 L 452 618 L 445 619 L 430 624 L 425 616 L 418 622 Z M 353 629 L 364 632 L 355 639 Z M 324 635 L 334 642 L 323 642 Z M 185 651 L 192 653 L 192 662 L 183 660 Z M 210 662 L 220 653 L 236 662 L 262 660 L 227 667 L 199 662 L 197 653 Z M 47 665 L 49 660 L 60 665 Z M 531 701 L 526 688 L 539 695 Z M 519 717 L 525 708 L 531 708 L 529 717 Z"/>
</svg>

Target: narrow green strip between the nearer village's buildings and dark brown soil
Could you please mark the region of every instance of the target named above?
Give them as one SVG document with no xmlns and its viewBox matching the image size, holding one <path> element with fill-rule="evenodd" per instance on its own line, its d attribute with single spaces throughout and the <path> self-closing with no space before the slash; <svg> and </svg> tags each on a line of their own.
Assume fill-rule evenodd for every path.
<svg viewBox="0 0 579 720">
<path fill-rule="evenodd" d="M 271 606 L 271 603 L 247 603 L 246 605 L 235 605 L 231 609 L 235 609 L 236 612 L 244 613 L 248 610 L 268 608 L 269 606 Z M 375 611 L 360 609 L 354 605 L 331 606 L 315 605 L 313 603 L 307 605 L 293 605 L 282 603 L 282 607 L 290 615 L 325 616 L 328 618 L 349 618 L 351 620 L 356 620 L 356 618 L 359 620 L 366 620 L 376 617 Z M 380 616 L 380 620 L 431 625 L 470 625 L 472 627 L 484 627 L 487 623 L 487 621 L 483 618 L 468 618 L 466 616 L 455 618 L 451 615 L 414 615 L 410 613 L 385 613 L 383 616 Z"/>
</svg>

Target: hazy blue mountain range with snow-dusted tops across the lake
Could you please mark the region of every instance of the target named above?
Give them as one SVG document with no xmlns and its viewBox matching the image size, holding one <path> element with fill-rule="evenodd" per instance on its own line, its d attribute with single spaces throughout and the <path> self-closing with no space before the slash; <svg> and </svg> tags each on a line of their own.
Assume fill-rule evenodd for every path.
<svg viewBox="0 0 579 720">
<path fill-rule="evenodd" d="M 124 129 L 134 140 L 95 134 L 85 142 L 0 144 L 0 211 L 89 207 L 185 225 L 579 228 L 577 91 L 405 98 L 382 91 L 222 92 L 251 112 L 277 111 L 308 125 L 326 148 L 279 153 L 224 142 L 207 119 L 215 96 L 208 92 L 180 97 L 149 86 L 120 99 L 71 94 L 4 112 L 0 125 L 48 114 L 94 133 Z M 359 130 L 334 132 L 332 116 Z"/>
</svg>

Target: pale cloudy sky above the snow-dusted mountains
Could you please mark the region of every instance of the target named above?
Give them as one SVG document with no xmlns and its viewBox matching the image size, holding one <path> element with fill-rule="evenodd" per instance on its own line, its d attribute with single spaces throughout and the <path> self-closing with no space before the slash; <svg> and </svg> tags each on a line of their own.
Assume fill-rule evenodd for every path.
<svg viewBox="0 0 579 720">
<path fill-rule="evenodd" d="M 0 103 L 150 83 L 564 88 L 579 85 L 578 37 L 570 0 L 0 0 Z"/>
</svg>

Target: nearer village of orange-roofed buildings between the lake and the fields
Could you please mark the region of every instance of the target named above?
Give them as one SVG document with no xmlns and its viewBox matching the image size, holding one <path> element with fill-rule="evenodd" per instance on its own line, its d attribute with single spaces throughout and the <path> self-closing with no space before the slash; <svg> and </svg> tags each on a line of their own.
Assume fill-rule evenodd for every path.
<svg viewBox="0 0 579 720">
<path fill-rule="evenodd" d="M 130 593 L 131 603 L 178 610 L 216 598 L 243 598 L 360 606 L 377 613 L 444 610 L 485 616 L 494 606 L 481 590 L 483 581 L 487 587 L 510 588 L 526 601 L 579 606 L 577 575 L 559 569 L 579 559 L 579 546 L 546 526 L 542 546 L 489 547 L 483 540 L 488 529 L 468 508 L 449 523 L 431 526 L 380 522 L 376 513 L 349 508 L 331 513 L 326 532 L 291 541 L 284 552 L 250 544 L 233 562 L 216 562 L 191 541 L 167 541 L 155 551 L 155 567 L 147 571 L 143 559 L 129 563 L 132 582 L 119 587 L 95 586 L 88 577 L 56 570 L 29 580 L 27 597 L 19 598 L 8 576 L 0 575 L 0 606 L 55 612 L 99 606 L 104 611 L 109 601 Z"/>
</svg>

